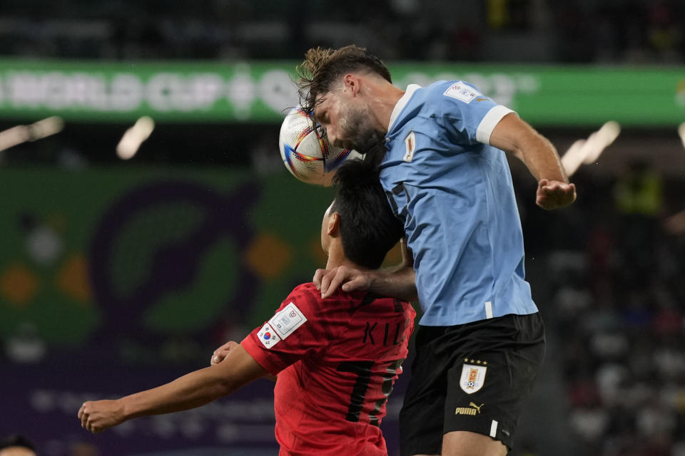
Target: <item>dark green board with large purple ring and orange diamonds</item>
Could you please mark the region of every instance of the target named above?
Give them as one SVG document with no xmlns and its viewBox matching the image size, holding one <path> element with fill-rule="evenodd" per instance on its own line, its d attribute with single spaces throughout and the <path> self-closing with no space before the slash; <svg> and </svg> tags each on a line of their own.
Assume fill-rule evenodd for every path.
<svg viewBox="0 0 685 456">
<path fill-rule="evenodd" d="M 242 337 L 326 264 L 333 192 L 287 172 L 27 168 L 2 182 L 0 339 Z"/>
</svg>

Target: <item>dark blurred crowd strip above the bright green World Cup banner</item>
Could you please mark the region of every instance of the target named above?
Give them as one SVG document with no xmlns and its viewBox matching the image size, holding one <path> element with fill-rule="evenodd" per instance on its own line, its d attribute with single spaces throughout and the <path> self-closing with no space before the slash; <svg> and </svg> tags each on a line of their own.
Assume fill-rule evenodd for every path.
<svg viewBox="0 0 685 456">
<path fill-rule="evenodd" d="M 1 0 L 4 55 L 301 58 L 358 43 L 386 60 L 681 63 L 676 0 Z"/>
</svg>

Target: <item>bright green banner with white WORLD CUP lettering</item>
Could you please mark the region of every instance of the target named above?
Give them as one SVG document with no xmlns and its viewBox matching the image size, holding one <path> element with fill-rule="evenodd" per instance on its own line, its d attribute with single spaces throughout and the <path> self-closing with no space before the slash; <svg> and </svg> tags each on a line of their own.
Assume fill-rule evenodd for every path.
<svg viewBox="0 0 685 456">
<path fill-rule="evenodd" d="M 277 123 L 298 103 L 298 62 L 0 60 L 0 117 Z M 392 63 L 394 82 L 461 79 L 534 125 L 679 125 L 685 68 Z"/>
</svg>

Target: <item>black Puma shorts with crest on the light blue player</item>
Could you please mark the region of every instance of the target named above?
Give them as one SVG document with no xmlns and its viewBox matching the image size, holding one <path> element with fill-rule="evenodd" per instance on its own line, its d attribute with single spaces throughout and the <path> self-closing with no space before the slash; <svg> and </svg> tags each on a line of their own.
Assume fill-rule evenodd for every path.
<svg viewBox="0 0 685 456">
<path fill-rule="evenodd" d="M 440 455 L 442 435 L 477 432 L 512 448 L 544 359 L 539 312 L 457 326 L 419 326 L 400 412 L 402 456 Z"/>
</svg>

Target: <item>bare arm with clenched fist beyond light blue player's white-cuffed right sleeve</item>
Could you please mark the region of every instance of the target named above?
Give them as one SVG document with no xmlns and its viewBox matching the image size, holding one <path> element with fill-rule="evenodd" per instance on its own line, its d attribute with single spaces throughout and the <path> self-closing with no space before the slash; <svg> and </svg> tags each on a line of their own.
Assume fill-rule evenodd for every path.
<svg viewBox="0 0 685 456">
<path fill-rule="evenodd" d="M 492 130 L 490 145 L 518 157 L 537 179 L 536 204 L 543 209 L 568 206 L 576 199 L 557 150 L 515 113 L 505 115 Z"/>
</svg>

